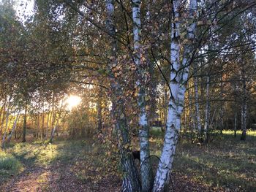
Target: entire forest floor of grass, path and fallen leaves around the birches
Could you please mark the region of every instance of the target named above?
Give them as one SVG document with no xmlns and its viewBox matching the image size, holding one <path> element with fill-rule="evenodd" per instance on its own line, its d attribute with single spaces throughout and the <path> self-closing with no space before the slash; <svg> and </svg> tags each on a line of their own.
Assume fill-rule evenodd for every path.
<svg viewBox="0 0 256 192">
<path fill-rule="evenodd" d="M 153 134 L 159 156 L 162 139 Z M 0 191 L 119 191 L 117 161 L 91 139 L 14 143 L 0 151 Z M 208 146 L 181 139 L 171 181 L 173 191 L 256 191 L 256 132 L 241 142 L 225 131 Z"/>
</svg>

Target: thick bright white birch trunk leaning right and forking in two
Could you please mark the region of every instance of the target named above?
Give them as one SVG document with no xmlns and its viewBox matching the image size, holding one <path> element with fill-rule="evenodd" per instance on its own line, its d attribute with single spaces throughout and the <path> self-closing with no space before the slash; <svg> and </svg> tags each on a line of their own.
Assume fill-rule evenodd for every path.
<svg viewBox="0 0 256 192">
<path fill-rule="evenodd" d="M 162 155 L 157 169 L 157 175 L 154 180 L 153 191 L 164 191 L 165 184 L 169 180 L 170 170 L 173 164 L 173 155 L 176 151 L 176 142 L 178 140 L 178 133 L 181 128 L 181 112 L 184 108 L 184 96 L 186 91 L 185 82 L 189 73 L 189 54 L 192 52 L 192 41 L 195 39 L 195 22 L 191 23 L 187 28 L 187 35 L 189 43 L 184 45 L 184 56 L 182 64 L 180 64 L 180 46 L 179 46 L 179 32 L 180 15 L 178 9 L 181 1 L 173 0 L 173 23 L 172 23 L 172 42 L 170 61 L 173 64 L 173 69 L 170 73 L 170 88 L 172 94 L 170 96 L 167 125 L 165 130 L 165 142 L 162 149 Z M 189 1 L 189 18 L 194 19 L 197 10 L 197 0 Z M 182 72 L 178 69 L 183 67 Z"/>
</svg>

